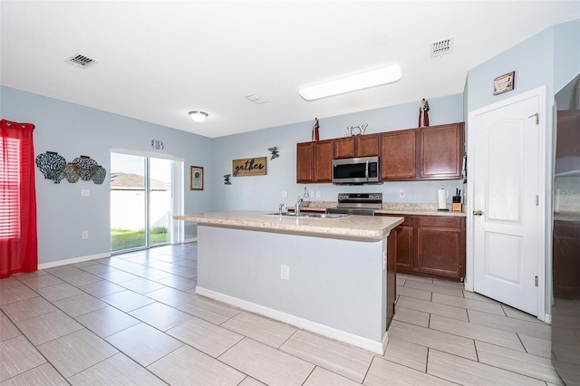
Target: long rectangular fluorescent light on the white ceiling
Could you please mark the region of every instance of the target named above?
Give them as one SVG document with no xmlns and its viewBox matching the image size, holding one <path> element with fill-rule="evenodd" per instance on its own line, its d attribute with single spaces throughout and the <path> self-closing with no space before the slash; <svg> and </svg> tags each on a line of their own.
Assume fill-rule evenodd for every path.
<svg viewBox="0 0 580 386">
<path fill-rule="evenodd" d="M 401 79 L 401 67 L 393 64 L 389 67 L 382 67 L 378 70 L 362 72 L 345 78 L 336 79 L 330 82 L 316 84 L 314 86 L 304 87 L 298 93 L 306 101 L 315 101 L 333 95 L 343 94 L 345 92 L 356 92 L 370 87 L 381 86 L 397 82 Z"/>
</svg>

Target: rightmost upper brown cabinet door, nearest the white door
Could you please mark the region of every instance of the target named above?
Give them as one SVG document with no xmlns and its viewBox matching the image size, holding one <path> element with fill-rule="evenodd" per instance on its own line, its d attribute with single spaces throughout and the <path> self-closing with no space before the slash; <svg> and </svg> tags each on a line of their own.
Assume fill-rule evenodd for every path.
<svg viewBox="0 0 580 386">
<path fill-rule="evenodd" d="M 419 129 L 420 179 L 459 179 L 463 160 L 463 123 Z"/>
</svg>

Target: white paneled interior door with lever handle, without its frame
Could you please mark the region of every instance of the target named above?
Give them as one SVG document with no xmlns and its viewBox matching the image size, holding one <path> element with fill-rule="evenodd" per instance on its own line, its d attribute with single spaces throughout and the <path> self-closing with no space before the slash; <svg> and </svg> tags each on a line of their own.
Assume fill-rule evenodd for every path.
<svg viewBox="0 0 580 386">
<path fill-rule="evenodd" d="M 514 98 L 469 120 L 473 173 L 473 289 L 538 315 L 541 95 Z M 542 160 L 543 161 L 543 160 Z M 543 200 L 542 200 L 543 202 Z M 542 270 L 543 273 L 543 270 Z M 540 283 L 541 282 L 541 283 Z"/>
</svg>

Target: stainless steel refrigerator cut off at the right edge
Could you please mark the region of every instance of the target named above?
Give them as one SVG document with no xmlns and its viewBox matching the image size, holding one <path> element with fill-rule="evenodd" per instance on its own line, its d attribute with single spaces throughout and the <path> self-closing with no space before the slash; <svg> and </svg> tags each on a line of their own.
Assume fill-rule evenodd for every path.
<svg viewBox="0 0 580 386">
<path fill-rule="evenodd" d="M 552 364 L 580 385 L 580 75 L 556 94 Z"/>
</svg>

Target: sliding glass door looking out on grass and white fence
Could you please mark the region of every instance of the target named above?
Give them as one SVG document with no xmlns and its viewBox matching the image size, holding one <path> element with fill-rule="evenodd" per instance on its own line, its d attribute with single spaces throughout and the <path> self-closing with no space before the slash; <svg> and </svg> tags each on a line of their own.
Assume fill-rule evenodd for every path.
<svg viewBox="0 0 580 386">
<path fill-rule="evenodd" d="M 169 244 L 176 169 L 182 162 L 111 152 L 111 252 Z"/>
</svg>

